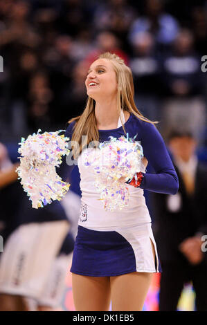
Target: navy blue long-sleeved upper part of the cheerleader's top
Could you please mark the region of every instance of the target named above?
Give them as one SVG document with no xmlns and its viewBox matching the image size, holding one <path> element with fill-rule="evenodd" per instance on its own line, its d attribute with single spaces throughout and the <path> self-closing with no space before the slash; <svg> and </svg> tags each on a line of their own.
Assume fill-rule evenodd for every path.
<svg viewBox="0 0 207 325">
<path fill-rule="evenodd" d="M 65 132 L 65 136 L 70 139 L 72 138 L 74 124 L 75 121 L 71 122 Z M 141 189 L 164 194 L 177 194 L 179 189 L 178 176 L 165 147 L 165 142 L 154 124 L 144 122 L 131 114 L 125 122 L 125 130 L 129 133 L 129 138 L 134 138 L 137 135 L 136 140 L 141 141 L 143 154 L 155 172 L 155 174 L 146 172 L 141 181 Z M 100 142 L 109 140 L 109 136 L 116 138 L 126 136 L 122 126 L 118 129 L 98 130 L 98 132 Z"/>
</svg>

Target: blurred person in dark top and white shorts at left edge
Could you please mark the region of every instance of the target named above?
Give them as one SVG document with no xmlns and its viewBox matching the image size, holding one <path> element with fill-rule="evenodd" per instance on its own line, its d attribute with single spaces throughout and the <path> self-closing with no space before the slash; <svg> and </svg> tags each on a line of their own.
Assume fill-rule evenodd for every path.
<svg viewBox="0 0 207 325">
<path fill-rule="evenodd" d="M 17 165 L 0 143 L 0 310 L 30 310 L 27 297 L 35 310 L 51 310 L 61 304 L 74 239 L 60 202 L 31 207 Z"/>
</svg>

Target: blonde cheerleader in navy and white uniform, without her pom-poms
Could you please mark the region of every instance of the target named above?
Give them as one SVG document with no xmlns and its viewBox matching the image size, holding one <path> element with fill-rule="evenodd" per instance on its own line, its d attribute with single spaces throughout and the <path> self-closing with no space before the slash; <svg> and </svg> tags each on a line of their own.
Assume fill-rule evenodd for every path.
<svg viewBox="0 0 207 325">
<path fill-rule="evenodd" d="M 66 136 L 78 160 L 82 206 L 71 266 L 76 310 L 142 310 L 154 272 L 160 272 L 151 218 L 143 189 L 176 194 L 177 174 L 163 138 L 134 104 L 132 72 L 123 59 L 104 53 L 91 64 L 85 85 L 88 101 L 82 115 L 69 121 Z M 141 141 L 144 158 L 138 183 L 129 183 L 129 205 L 107 212 L 93 185 L 93 170 L 84 167 L 82 150 L 91 141 L 129 133 Z M 85 142 L 82 142 L 82 136 Z M 145 173 L 147 162 L 155 174 Z M 120 178 L 120 182 L 125 179 Z"/>
</svg>

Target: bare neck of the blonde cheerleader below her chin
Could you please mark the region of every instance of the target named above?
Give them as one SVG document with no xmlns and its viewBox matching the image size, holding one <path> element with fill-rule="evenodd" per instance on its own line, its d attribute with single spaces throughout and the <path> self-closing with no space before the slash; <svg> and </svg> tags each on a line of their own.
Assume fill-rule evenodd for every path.
<svg viewBox="0 0 207 325">
<path fill-rule="evenodd" d="M 109 128 L 114 124 L 117 125 L 119 112 L 117 110 L 116 98 L 114 100 L 105 100 L 105 102 L 96 102 L 95 116 L 97 127 Z"/>
</svg>

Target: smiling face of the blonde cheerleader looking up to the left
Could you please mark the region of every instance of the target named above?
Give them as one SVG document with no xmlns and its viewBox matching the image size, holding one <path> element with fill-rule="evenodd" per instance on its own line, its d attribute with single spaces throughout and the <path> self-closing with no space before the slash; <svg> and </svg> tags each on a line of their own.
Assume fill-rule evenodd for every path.
<svg viewBox="0 0 207 325">
<path fill-rule="evenodd" d="M 117 94 L 114 66 L 108 59 L 97 59 L 89 68 L 85 81 L 87 94 L 93 100 L 113 98 Z"/>
</svg>

